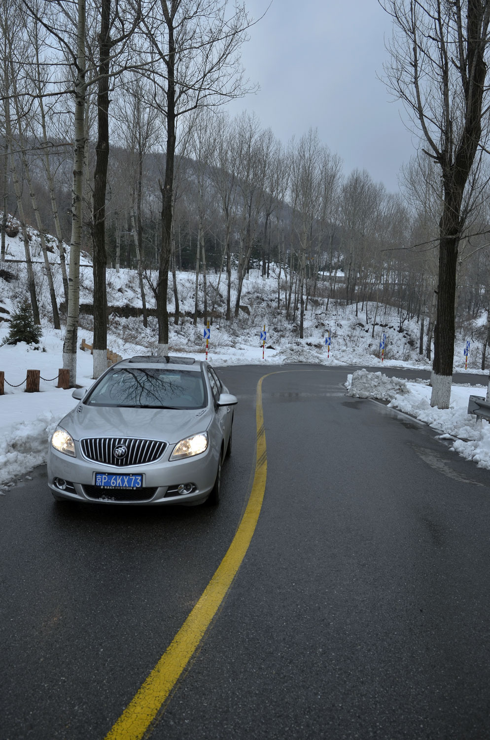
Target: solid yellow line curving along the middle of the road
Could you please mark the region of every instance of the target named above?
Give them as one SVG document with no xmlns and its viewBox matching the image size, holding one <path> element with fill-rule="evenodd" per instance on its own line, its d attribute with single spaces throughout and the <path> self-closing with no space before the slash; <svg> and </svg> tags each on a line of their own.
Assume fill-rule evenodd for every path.
<svg viewBox="0 0 490 740">
<path fill-rule="evenodd" d="M 273 373 L 268 373 L 273 374 Z M 220 608 L 250 545 L 264 499 L 267 477 L 264 415 L 262 411 L 262 380 L 256 393 L 256 468 L 247 508 L 239 523 L 225 557 L 208 583 L 203 596 L 177 632 L 152 673 L 141 685 L 105 740 L 141 740 L 157 716 L 163 702 L 199 646 L 211 620 Z"/>
</svg>

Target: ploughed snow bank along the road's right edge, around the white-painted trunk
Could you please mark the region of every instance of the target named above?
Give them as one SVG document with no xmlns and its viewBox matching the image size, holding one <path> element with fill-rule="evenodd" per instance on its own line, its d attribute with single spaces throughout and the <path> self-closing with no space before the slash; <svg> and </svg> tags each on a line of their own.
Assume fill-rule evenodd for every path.
<svg viewBox="0 0 490 740">
<path fill-rule="evenodd" d="M 490 424 L 477 423 L 476 417 L 467 413 L 470 395 L 485 397 L 482 386 L 452 386 L 449 408 L 430 406 L 432 388 L 423 380 L 409 383 L 363 369 L 348 375 L 345 386 L 350 396 L 389 400 L 389 408 L 415 417 L 442 432 L 443 437 L 454 438 L 452 450 L 490 470 Z"/>
</svg>

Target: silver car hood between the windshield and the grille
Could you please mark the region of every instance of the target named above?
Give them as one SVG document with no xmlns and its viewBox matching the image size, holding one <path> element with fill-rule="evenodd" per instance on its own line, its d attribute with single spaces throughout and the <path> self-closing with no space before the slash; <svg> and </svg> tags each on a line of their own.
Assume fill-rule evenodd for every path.
<svg viewBox="0 0 490 740">
<path fill-rule="evenodd" d="M 80 403 L 61 420 L 60 426 L 74 440 L 83 437 L 143 437 L 171 444 L 205 431 L 212 417 L 210 408 L 115 408 Z"/>
</svg>

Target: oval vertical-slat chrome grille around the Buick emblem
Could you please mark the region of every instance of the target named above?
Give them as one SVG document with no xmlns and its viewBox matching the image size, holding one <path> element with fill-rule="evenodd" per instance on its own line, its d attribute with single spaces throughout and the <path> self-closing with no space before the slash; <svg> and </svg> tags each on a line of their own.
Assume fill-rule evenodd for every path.
<svg viewBox="0 0 490 740">
<path fill-rule="evenodd" d="M 81 450 L 87 460 L 127 468 L 129 465 L 146 465 L 163 455 L 166 442 L 137 440 L 132 437 L 94 437 L 80 440 Z M 115 449 L 126 447 L 123 457 L 115 455 Z"/>
</svg>

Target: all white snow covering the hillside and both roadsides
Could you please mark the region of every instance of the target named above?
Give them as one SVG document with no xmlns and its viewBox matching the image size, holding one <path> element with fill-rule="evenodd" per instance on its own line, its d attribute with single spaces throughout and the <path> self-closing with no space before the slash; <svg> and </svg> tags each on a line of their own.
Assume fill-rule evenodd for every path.
<svg viewBox="0 0 490 740">
<path fill-rule="evenodd" d="M 43 337 L 38 348 L 18 344 L 1 346 L 1 341 L 8 333 L 9 314 L 16 308 L 21 297 L 27 295 L 27 280 L 24 265 L 12 260 L 24 259 L 24 245 L 20 235 L 7 238 L 7 259 L 0 263 L 0 269 L 12 275 L 10 280 L 0 277 L 0 370 L 5 373 L 5 394 L 0 397 L 0 484 L 6 484 L 25 474 L 35 465 L 46 460 L 47 445 L 57 421 L 75 406 L 71 391 L 56 388 L 58 375 L 62 366 L 62 348 L 64 329 L 55 331 L 50 324 L 50 298 L 47 292 L 47 280 L 44 266 L 35 264 L 36 284 L 40 303 Z M 30 229 L 30 250 L 34 260 L 42 261 L 37 232 Z M 63 300 L 63 286 L 59 256 L 55 240 L 50 238 L 54 251 L 50 252 L 53 266 L 58 302 Z M 67 252 L 69 247 L 65 245 Z M 58 260 L 58 263 L 57 263 Z M 416 368 L 429 370 L 430 363 L 418 355 L 418 332 L 420 326 L 415 319 L 399 317 L 395 309 L 388 307 L 376 314 L 375 305 L 359 304 L 356 307 L 337 305 L 330 300 L 328 312 L 325 312 L 326 301 L 321 297 L 310 300 L 304 317 L 304 338 L 299 339 L 299 321 L 290 323 L 284 312 L 277 309 L 277 275 L 278 268 L 271 265 L 270 278 L 262 280 L 258 269 L 250 273 L 244 281 L 241 305 L 248 312 L 240 310 L 239 316 L 229 323 L 222 317 L 214 317 L 211 325 L 208 360 L 216 366 L 246 365 L 263 363 L 265 365 L 282 365 L 283 363 L 317 363 L 324 366 L 383 366 L 398 368 Z M 282 272 L 284 276 L 284 272 Z M 200 277 L 200 297 L 203 285 Z M 197 360 L 205 358 L 205 340 L 203 339 L 203 319 L 192 322 L 194 312 L 195 276 L 191 272 L 177 274 L 180 298 L 180 321 L 174 326 L 170 323 L 171 354 L 184 354 Z M 321 289 L 321 286 L 319 286 Z M 208 306 L 216 304 L 217 312 L 222 313 L 225 307 L 225 275 L 208 272 Z M 231 300 L 234 306 L 236 289 L 232 286 Z M 81 259 L 81 303 L 92 303 L 92 266 L 89 255 Z M 107 300 L 110 307 L 120 314 L 128 314 L 141 306 L 139 285 L 134 270 L 107 270 Z M 152 291 L 148 288 L 146 301 L 149 308 L 154 308 Z M 281 305 L 284 303 L 284 286 L 281 286 Z M 362 310 L 361 310 L 362 309 Z M 169 311 L 173 312 L 173 295 L 169 292 Z M 250 315 L 249 315 L 250 314 Z M 372 322 L 375 321 L 373 335 Z M 482 326 L 486 321 L 480 315 L 474 326 L 461 329 L 455 344 L 455 371 L 464 368 L 463 349 L 472 330 Z M 157 321 L 149 317 L 149 326 L 143 327 L 139 316 L 124 317 L 112 312 L 109 315 L 108 347 L 123 357 L 135 354 L 156 354 Z M 262 343 L 259 334 L 266 326 L 265 360 L 262 360 Z M 81 314 L 78 329 L 78 346 L 81 340 L 92 344 L 93 320 L 89 314 Z M 384 363 L 381 362 L 379 342 L 383 334 L 387 335 Z M 331 337 L 330 353 L 324 344 L 324 338 Z M 472 343 L 469 354 L 468 372 L 480 372 L 481 345 Z M 24 380 L 28 369 L 41 371 L 41 393 L 24 392 Z M 92 381 L 93 361 L 88 351 L 78 350 L 77 383 L 90 386 Z M 20 385 L 19 385 L 20 384 Z M 13 386 L 18 386 L 13 387 Z M 420 383 L 407 383 L 396 378 L 387 378 L 381 372 L 354 373 L 350 390 L 358 397 L 378 397 L 389 401 L 393 408 L 399 408 L 452 437 L 459 437 L 454 448 L 469 460 L 480 466 L 490 468 L 490 432 L 489 426 L 483 423 L 475 428 L 474 417 L 466 414 L 470 393 L 484 395 L 480 388 L 452 389 L 452 408 L 440 411 L 429 406 L 430 388 Z M 463 440 L 463 441 L 461 441 Z M 1 488 L 1 486 L 0 486 Z"/>
</svg>

